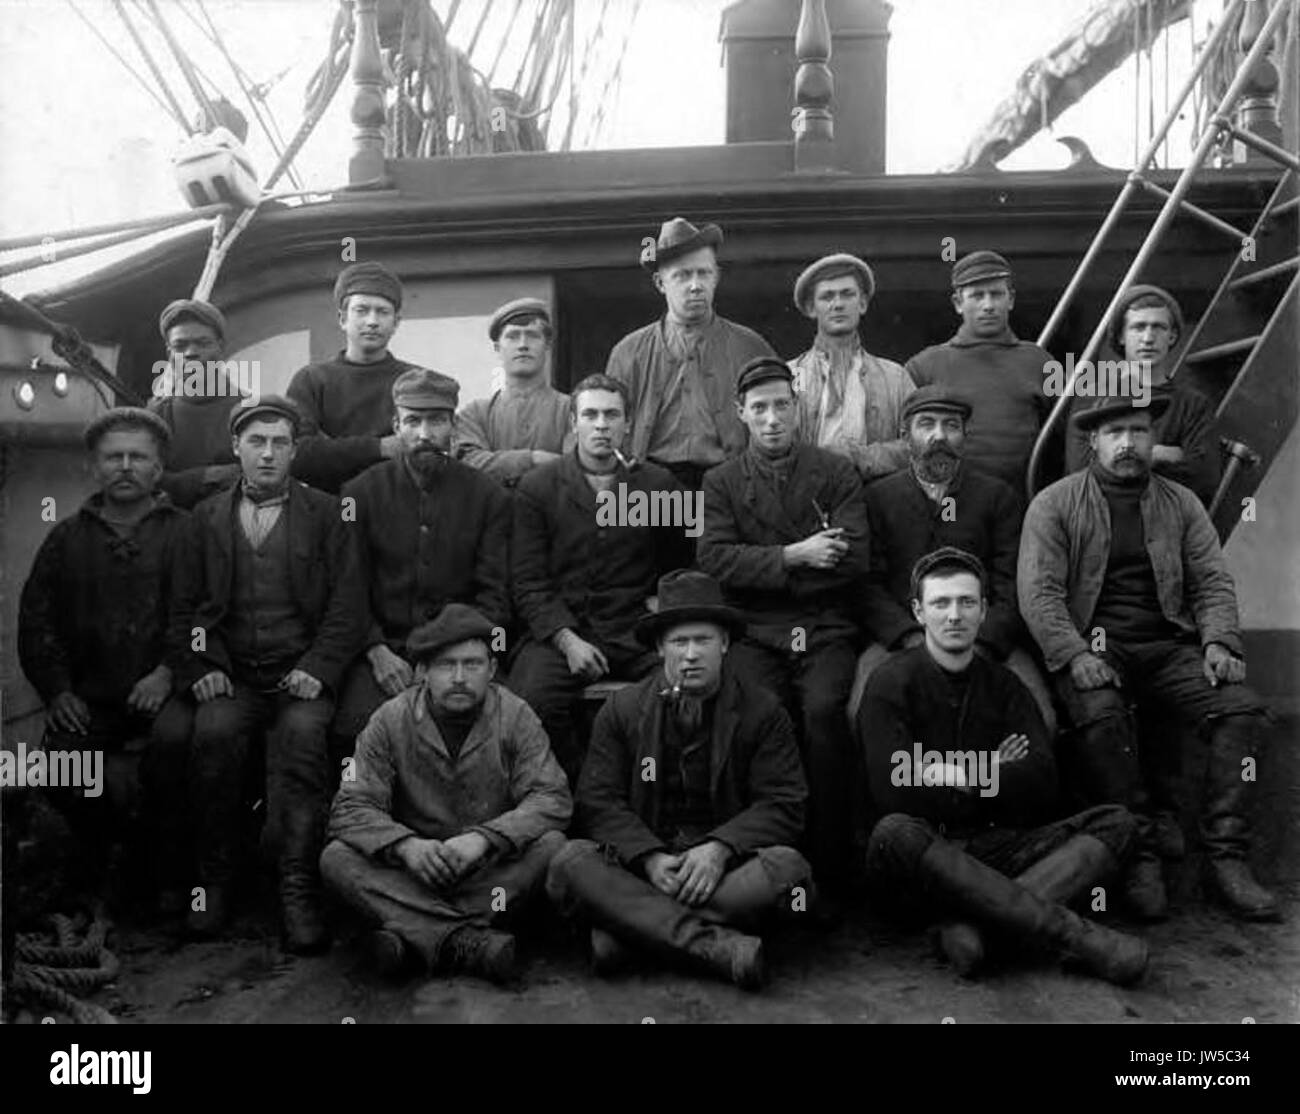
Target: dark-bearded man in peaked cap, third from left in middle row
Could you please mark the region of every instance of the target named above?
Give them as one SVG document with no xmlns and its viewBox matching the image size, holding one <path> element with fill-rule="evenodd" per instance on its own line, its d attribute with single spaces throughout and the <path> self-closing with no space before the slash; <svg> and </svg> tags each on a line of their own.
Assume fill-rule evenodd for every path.
<svg viewBox="0 0 1300 1114">
<path fill-rule="evenodd" d="M 398 377 L 390 425 L 398 456 L 343 486 L 369 590 L 365 655 L 348 671 L 334 719 L 335 747 L 346 754 L 370 714 L 411 684 L 403 655 L 416 627 L 448 603 L 478 608 L 502 636 L 510 621 L 510 497 L 450 456 L 459 390 L 429 368 Z"/>
</svg>

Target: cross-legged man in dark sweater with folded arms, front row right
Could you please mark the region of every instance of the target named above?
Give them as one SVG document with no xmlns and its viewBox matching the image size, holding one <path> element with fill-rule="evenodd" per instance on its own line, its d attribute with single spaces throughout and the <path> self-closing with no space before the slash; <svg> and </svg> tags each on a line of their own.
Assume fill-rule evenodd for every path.
<svg viewBox="0 0 1300 1114">
<path fill-rule="evenodd" d="M 915 897 L 958 918 L 940 945 L 962 975 L 983 959 L 980 931 L 996 929 L 1114 983 L 1141 978 L 1144 941 L 1067 909 L 1117 868 L 1132 816 L 1102 805 L 1053 820 L 1043 718 L 1006 667 L 975 653 L 988 614 L 983 564 L 945 547 L 911 580 L 926 642 L 883 663 L 858 710 L 872 803 L 885 814 L 868 876 L 889 901 Z"/>
</svg>

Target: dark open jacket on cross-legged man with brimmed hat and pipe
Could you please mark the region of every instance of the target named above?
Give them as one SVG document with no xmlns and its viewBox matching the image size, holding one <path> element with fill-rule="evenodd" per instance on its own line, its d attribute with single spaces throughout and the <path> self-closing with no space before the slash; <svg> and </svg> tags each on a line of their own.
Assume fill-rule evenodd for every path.
<svg viewBox="0 0 1300 1114">
<path fill-rule="evenodd" d="M 577 786 L 577 820 L 585 836 L 612 848 L 624 866 L 667 850 L 655 835 L 663 777 L 647 779 L 647 759 L 663 762 L 666 701 L 662 671 L 615 693 L 595 718 Z M 736 857 L 793 845 L 803 833 L 807 785 L 794 725 L 764 689 L 723 669 L 714 707 L 710 785 L 719 840 Z"/>
</svg>

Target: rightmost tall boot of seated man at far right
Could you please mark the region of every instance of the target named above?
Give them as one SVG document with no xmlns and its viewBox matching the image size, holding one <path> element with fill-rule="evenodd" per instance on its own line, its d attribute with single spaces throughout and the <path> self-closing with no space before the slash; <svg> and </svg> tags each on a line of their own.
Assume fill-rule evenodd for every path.
<svg viewBox="0 0 1300 1114">
<path fill-rule="evenodd" d="M 1251 797 L 1243 760 L 1254 754 L 1254 716 L 1216 720 L 1210 729 L 1201 840 L 1205 844 L 1210 890 L 1243 920 L 1280 920 L 1278 900 L 1256 881 L 1247 855 L 1251 849 Z"/>
</svg>

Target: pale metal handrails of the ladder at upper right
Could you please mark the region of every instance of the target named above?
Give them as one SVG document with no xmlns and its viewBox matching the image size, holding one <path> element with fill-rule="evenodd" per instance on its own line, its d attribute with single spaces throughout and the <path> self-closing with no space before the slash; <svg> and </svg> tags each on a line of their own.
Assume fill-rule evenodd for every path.
<svg viewBox="0 0 1300 1114">
<path fill-rule="evenodd" d="M 1268 143 L 1266 140 L 1260 140 L 1257 136 L 1249 135 L 1249 133 L 1244 133 L 1245 135 L 1249 135 L 1249 139 L 1243 138 L 1242 130 L 1227 120 L 1227 113 L 1231 112 L 1232 107 L 1240 99 L 1242 92 L 1245 88 L 1245 83 L 1251 78 L 1252 70 L 1271 48 L 1273 36 L 1277 34 L 1279 25 L 1287 17 L 1292 4 L 1295 3 L 1297 3 L 1297 0 L 1282 0 L 1269 13 L 1269 17 L 1265 21 L 1264 26 L 1260 29 L 1260 34 L 1256 38 L 1253 45 L 1251 47 L 1247 56 L 1239 64 L 1236 73 L 1232 77 L 1232 83 L 1223 92 L 1223 96 L 1219 99 L 1218 107 L 1210 114 L 1210 126 L 1208 126 L 1201 133 L 1201 136 L 1196 143 L 1196 149 L 1192 153 L 1192 159 L 1188 161 L 1187 166 L 1183 168 L 1183 172 L 1179 174 L 1178 182 L 1174 185 L 1174 188 L 1171 191 L 1167 191 L 1165 204 L 1161 207 L 1161 211 L 1156 217 L 1156 222 L 1147 233 L 1147 237 L 1143 240 L 1141 247 L 1138 250 L 1138 255 L 1134 257 L 1134 261 L 1128 266 L 1128 270 L 1124 273 L 1124 277 L 1121 281 L 1118 290 L 1110 299 L 1110 304 L 1106 307 L 1105 312 L 1098 318 L 1097 328 L 1093 330 L 1092 337 L 1089 338 L 1088 344 L 1084 348 L 1083 356 L 1078 360 L 1078 363 L 1074 367 L 1074 370 L 1066 380 L 1065 389 L 1061 393 L 1061 398 L 1056 400 L 1056 404 L 1052 407 L 1052 411 L 1048 415 L 1046 421 L 1044 421 L 1043 424 L 1043 429 L 1039 432 L 1037 441 L 1035 441 L 1034 443 L 1034 452 L 1030 455 L 1030 465 L 1026 472 L 1026 489 L 1030 498 L 1032 498 L 1037 491 L 1037 474 L 1043 465 L 1044 450 L 1052 434 L 1061 424 L 1061 419 L 1070 404 L 1070 399 L 1074 396 L 1075 381 L 1078 380 L 1083 369 L 1092 363 L 1093 356 L 1096 356 L 1097 350 L 1101 347 L 1101 341 L 1105 337 L 1108 322 L 1110 321 L 1119 303 L 1123 300 L 1123 296 L 1128 292 L 1130 287 L 1134 286 L 1143 268 L 1145 268 L 1152 255 L 1154 255 L 1156 244 L 1164 237 L 1169 225 L 1173 224 L 1174 217 L 1180 211 L 1184 211 L 1187 208 L 1184 198 L 1188 190 L 1191 190 L 1191 185 L 1193 178 L 1196 177 L 1196 173 L 1201 169 L 1201 164 L 1205 161 L 1205 157 L 1209 155 L 1210 148 L 1214 146 L 1218 136 L 1223 131 L 1228 131 L 1235 138 L 1242 139 L 1243 143 L 1247 143 L 1256 151 L 1260 151 L 1260 153 L 1265 155 L 1269 159 L 1273 159 L 1274 161 L 1279 162 L 1283 166 L 1290 166 L 1292 169 L 1300 166 L 1300 160 L 1296 160 L 1296 157 L 1291 155 L 1288 151 L 1283 151 L 1280 147 L 1275 147 L 1274 144 Z M 1188 79 L 1190 82 L 1193 82 L 1195 78 L 1199 77 L 1199 74 L 1201 73 L 1201 70 L 1206 64 L 1206 60 L 1210 57 L 1212 47 L 1217 45 L 1219 32 L 1226 34 L 1226 27 L 1232 22 L 1236 10 L 1240 6 L 1242 6 L 1240 4 L 1234 3 L 1231 8 L 1228 8 L 1228 12 L 1226 13 L 1223 21 L 1216 29 L 1216 34 L 1210 36 L 1210 40 L 1206 43 L 1205 49 L 1201 51 L 1201 56 L 1200 58 L 1197 58 L 1196 66 L 1193 66 L 1192 75 Z M 1176 117 L 1176 113 L 1180 108 L 1182 108 L 1180 103 L 1171 108 L 1170 114 L 1165 121 L 1165 125 L 1162 125 L 1162 127 L 1157 130 L 1156 139 L 1161 142 L 1164 140 L 1164 134 L 1169 130 L 1170 126 L 1173 126 L 1173 120 L 1174 117 Z M 1143 186 L 1144 179 L 1141 172 L 1147 168 L 1147 164 L 1149 164 L 1150 157 L 1153 157 L 1154 146 L 1156 140 L 1153 140 L 1152 144 L 1148 147 L 1148 152 L 1145 157 L 1141 160 L 1141 166 L 1139 169 L 1135 169 L 1128 175 L 1128 181 L 1124 183 L 1124 188 L 1121 192 L 1121 196 L 1115 200 L 1115 204 L 1112 207 L 1112 212 L 1106 216 L 1102 227 L 1098 230 L 1097 237 L 1093 239 L 1093 243 L 1089 247 L 1088 253 L 1086 255 L 1083 263 L 1080 263 L 1079 269 L 1075 272 L 1075 277 L 1071 279 L 1070 285 L 1066 289 L 1066 294 L 1070 295 L 1071 298 L 1083 283 L 1083 273 L 1086 265 L 1091 266 L 1091 264 L 1096 260 L 1096 256 L 1100 253 L 1100 243 L 1102 239 L 1102 234 L 1109 233 L 1110 229 L 1118 222 L 1119 214 L 1122 213 L 1123 207 L 1127 204 L 1132 191 Z M 1166 191 L 1162 190 L 1161 187 L 1154 187 L 1154 188 L 1158 190 L 1161 194 L 1166 194 Z M 1208 213 L 1204 213 L 1202 209 L 1197 209 L 1196 207 L 1191 207 L 1191 213 L 1193 216 L 1209 216 Z M 1214 220 L 1214 226 L 1219 227 L 1221 230 L 1232 229 L 1234 237 L 1245 235 L 1244 233 L 1240 233 L 1240 230 L 1234 229 L 1231 225 L 1227 225 L 1223 221 L 1218 221 L 1217 218 Z M 1063 300 L 1065 295 L 1062 295 L 1062 302 Z M 1058 309 L 1062 308 L 1058 305 Z M 1049 325 L 1052 326 L 1053 331 L 1060 322 L 1060 316 L 1063 316 L 1063 309 L 1060 315 L 1058 313 L 1052 315 Z M 1046 334 L 1046 329 L 1044 330 L 1044 334 Z"/>
</svg>

